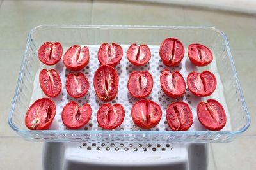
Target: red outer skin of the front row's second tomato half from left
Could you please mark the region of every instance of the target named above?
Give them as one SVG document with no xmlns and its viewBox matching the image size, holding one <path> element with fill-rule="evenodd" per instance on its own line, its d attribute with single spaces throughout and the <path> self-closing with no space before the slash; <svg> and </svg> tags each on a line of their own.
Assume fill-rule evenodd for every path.
<svg viewBox="0 0 256 170">
<path fill-rule="evenodd" d="M 79 105 L 78 105 L 76 102 L 74 102 L 74 101 L 70 101 L 69 103 L 67 103 L 67 104 L 64 106 L 64 108 L 63 108 L 63 110 L 62 110 L 62 113 L 61 113 L 61 119 L 62 119 L 63 124 L 64 124 L 66 127 L 68 127 L 68 129 L 80 129 L 81 127 L 84 127 L 84 125 L 86 125 L 86 124 L 89 122 L 89 120 L 90 120 L 90 118 L 91 118 L 91 116 L 92 116 L 92 108 L 91 108 L 90 104 L 84 103 L 83 106 L 79 106 L 79 108 L 88 107 L 88 108 L 89 108 L 89 111 L 88 111 L 89 115 L 86 115 L 87 117 L 86 117 L 85 120 L 83 120 L 83 123 L 80 122 L 81 124 L 78 123 L 77 125 L 70 125 L 70 124 L 68 124 L 68 122 L 65 122 L 64 111 L 68 108 L 68 104 L 76 104 L 77 106 L 79 106 Z"/>
</svg>

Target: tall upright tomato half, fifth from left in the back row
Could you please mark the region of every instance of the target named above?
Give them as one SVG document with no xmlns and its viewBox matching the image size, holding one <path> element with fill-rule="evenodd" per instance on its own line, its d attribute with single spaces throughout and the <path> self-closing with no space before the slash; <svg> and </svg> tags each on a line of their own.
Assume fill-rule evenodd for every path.
<svg viewBox="0 0 256 170">
<path fill-rule="evenodd" d="M 160 46 L 160 57 L 168 67 L 178 66 L 184 57 L 184 46 L 175 38 L 166 38 Z"/>
</svg>

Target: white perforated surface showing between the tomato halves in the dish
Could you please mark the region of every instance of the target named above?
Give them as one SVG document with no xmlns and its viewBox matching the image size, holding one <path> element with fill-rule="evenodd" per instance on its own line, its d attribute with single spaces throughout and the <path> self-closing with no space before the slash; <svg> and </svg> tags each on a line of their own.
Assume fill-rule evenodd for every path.
<svg viewBox="0 0 256 170">
<path fill-rule="evenodd" d="M 88 124 L 86 124 L 83 128 L 81 128 L 79 130 L 86 130 L 86 131 L 102 130 L 97 123 L 97 111 L 99 109 L 99 106 L 101 106 L 104 102 L 101 101 L 95 95 L 95 90 L 93 88 L 93 75 L 94 75 L 95 71 L 98 69 L 98 67 L 100 66 L 99 61 L 97 59 L 97 52 L 99 50 L 100 45 L 86 45 L 86 46 L 88 46 L 88 48 L 90 50 L 90 62 L 81 71 L 88 78 L 89 83 L 90 83 L 90 88 L 88 90 L 88 93 L 84 97 L 81 97 L 80 99 L 74 99 L 73 97 L 68 96 L 67 91 L 65 89 L 65 81 L 66 81 L 67 74 L 70 73 L 71 71 L 69 71 L 65 68 L 62 60 L 60 62 L 58 62 L 58 64 L 56 64 L 56 66 L 54 66 L 54 69 L 56 69 L 58 71 L 58 73 L 60 74 L 60 77 L 61 77 L 62 92 L 60 95 L 58 95 L 57 97 L 55 97 L 53 99 L 56 104 L 56 116 L 54 118 L 54 122 L 52 122 L 52 125 L 50 127 L 51 130 L 67 130 L 68 131 L 67 127 L 65 127 L 65 125 L 63 124 L 63 122 L 61 120 L 61 112 L 63 110 L 63 107 L 69 101 L 76 101 L 80 105 L 82 105 L 84 103 L 89 103 L 90 106 L 92 107 L 92 117 L 90 118 L 90 121 L 88 122 Z M 122 57 L 121 62 L 115 67 L 116 71 L 118 72 L 118 76 L 119 76 L 118 94 L 116 95 L 115 99 L 113 99 L 113 101 L 110 101 L 109 103 L 122 104 L 122 106 L 124 106 L 124 109 L 125 109 L 125 118 L 124 118 L 124 122 L 122 123 L 122 125 L 120 125 L 120 127 L 117 127 L 113 131 L 172 131 L 167 124 L 165 111 L 166 111 L 167 106 L 174 101 L 184 101 L 189 104 L 189 106 L 192 110 L 194 122 L 188 131 L 205 130 L 204 127 L 202 127 L 202 125 L 198 121 L 198 118 L 196 115 L 196 106 L 197 106 L 198 102 L 203 100 L 202 97 L 194 96 L 193 94 L 191 94 L 191 92 L 189 92 L 188 88 L 186 88 L 186 92 L 183 96 L 173 99 L 171 97 L 166 96 L 166 94 L 164 94 L 163 90 L 161 89 L 160 74 L 161 74 L 161 71 L 163 71 L 163 69 L 166 68 L 166 66 L 163 64 L 163 62 L 161 61 L 161 58 L 159 57 L 159 46 L 149 45 L 152 56 L 151 56 L 150 61 L 147 64 L 145 64 L 145 66 L 133 66 L 127 60 L 127 57 L 126 57 L 126 52 L 127 52 L 127 49 L 129 48 L 129 45 L 121 45 L 121 46 L 124 50 L 124 55 Z M 67 49 L 63 49 L 63 52 L 65 52 L 66 50 Z M 213 66 L 212 70 L 214 71 L 214 67 L 216 66 L 216 63 L 214 63 L 214 61 L 213 61 L 213 63 L 211 63 L 211 65 Z M 52 68 L 49 66 L 45 66 L 44 64 L 42 64 L 42 67 L 46 67 L 47 69 Z M 179 71 L 185 80 L 191 71 L 197 71 L 197 67 L 194 66 L 193 64 L 191 64 L 190 60 L 188 59 L 187 53 L 185 53 L 184 59 L 179 64 L 179 66 L 169 67 L 168 69 L 170 71 L 175 71 L 175 70 Z M 153 90 L 152 90 L 150 96 L 148 96 L 146 98 L 158 103 L 159 106 L 161 106 L 161 109 L 163 111 L 161 121 L 154 128 L 140 129 L 132 122 L 131 108 L 132 108 L 133 104 L 139 100 L 139 99 L 135 99 L 134 97 L 132 97 L 129 94 L 128 89 L 127 89 L 127 81 L 129 79 L 129 75 L 132 73 L 132 71 L 149 71 L 154 78 Z M 35 81 L 34 81 L 35 86 L 39 86 L 39 83 L 38 83 L 39 82 L 38 81 L 39 72 L 40 72 L 40 70 L 38 70 L 38 73 L 37 73 Z M 218 73 L 215 73 L 215 76 L 217 78 L 217 81 L 220 80 Z M 35 95 L 33 97 L 31 97 L 31 103 L 33 103 L 33 101 L 35 101 L 34 100 L 35 98 L 47 97 L 47 96 L 45 96 L 45 94 L 42 92 L 41 89 L 40 89 L 40 92 L 41 92 L 40 94 L 38 94 L 38 88 L 35 90 L 37 90 L 37 91 L 33 92 L 33 94 L 35 94 Z M 219 97 L 221 97 L 221 95 L 223 96 L 223 94 L 221 94 L 223 89 L 218 87 L 216 89 L 216 91 L 218 91 L 218 90 L 219 90 L 219 92 L 214 92 L 214 94 L 216 94 L 215 99 L 218 99 Z M 213 94 L 213 96 L 214 96 L 214 94 Z M 227 114 L 227 115 L 229 115 L 229 114 Z M 225 127 L 227 127 L 229 125 L 230 124 L 226 124 Z M 225 127 L 222 129 L 223 131 L 225 131 L 225 129 L 226 129 Z"/>
</svg>

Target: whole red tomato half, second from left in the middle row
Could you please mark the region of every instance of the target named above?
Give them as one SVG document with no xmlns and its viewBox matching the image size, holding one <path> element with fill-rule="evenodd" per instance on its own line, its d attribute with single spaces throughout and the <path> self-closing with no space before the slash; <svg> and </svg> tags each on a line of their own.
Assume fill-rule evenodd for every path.
<svg viewBox="0 0 256 170">
<path fill-rule="evenodd" d="M 89 81 L 82 73 L 69 73 L 66 80 L 66 90 L 74 98 L 83 97 L 89 90 Z"/>
</svg>

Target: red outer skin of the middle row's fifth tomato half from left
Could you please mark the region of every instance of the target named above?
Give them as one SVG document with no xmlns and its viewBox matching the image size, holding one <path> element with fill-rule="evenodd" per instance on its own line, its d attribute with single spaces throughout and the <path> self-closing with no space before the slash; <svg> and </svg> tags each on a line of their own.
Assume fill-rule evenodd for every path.
<svg viewBox="0 0 256 170">
<path fill-rule="evenodd" d="M 182 79 L 180 79 L 180 80 L 182 81 L 182 84 L 180 84 L 180 86 L 182 86 L 182 88 L 184 89 L 184 90 L 182 90 L 182 92 L 180 92 L 180 93 L 173 93 L 173 92 L 171 92 L 170 90 L 168 90 L 168 89 L 165 87 L 165 85 L 164 85 L 164 72 L 165 72 L 165 71 L 169 71 L 169 70 L 168 70 L 168 69 L 164 69 L 164 70 L 162 71 L 161 75 L 160 75 L 160 83 L 161 83 L 161 87 L 162 87 L 162 89 L 163 89 L 163 92 L 164 92 L 167 96 L 172 97 L 172 98 L 177 98 L 177 97 L 182 96 L 182 95 L 185 93 L 185 90 L 186 90 L 186 82 L 185 82 L 185 80 L 184 80 L 182 74 L 180 74 L 179 71 L 173 71 L 173 72 L 172 72 L 172 73 L 174 73 L 174 74 L 179 74 L 179 76 L 182 78 Z"/>
</svg>

